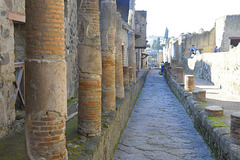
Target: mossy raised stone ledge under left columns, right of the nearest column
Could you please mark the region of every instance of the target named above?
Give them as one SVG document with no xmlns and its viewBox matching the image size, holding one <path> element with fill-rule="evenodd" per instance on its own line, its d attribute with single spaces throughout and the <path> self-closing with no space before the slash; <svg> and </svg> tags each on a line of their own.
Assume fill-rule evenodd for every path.
<svg viewBox="0 0 240 160">
<path fill-rule="evenodd" d="M 125 98 L 117 100 L 117 109 L 102 113 L 102 132 L 98 137 L 84 137 L 77 133 L 77 116 L 67 122 L 66 137 L 68 159 L 112 159 L 121 134 L 143 87 L 148 70 L 140 72 L 135 84 L 125 92 Z"/>
</svg>

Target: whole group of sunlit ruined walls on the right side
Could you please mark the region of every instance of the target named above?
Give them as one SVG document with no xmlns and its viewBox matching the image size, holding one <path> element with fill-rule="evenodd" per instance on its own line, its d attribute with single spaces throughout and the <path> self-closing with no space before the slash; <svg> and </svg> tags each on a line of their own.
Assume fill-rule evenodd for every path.
<svg viewBox="0 0 240 160">
<path fill-rule="evenodd" d="M 240 15 L 226 15 L 215 21 L 211 31 L 182 34 L 163 44 L 164 62 L 178 61 L 178 66 L 195 77 L 240 95 L 239 42 Z M 189 58 L 192 44 L 201 54 Z M 214 53 L 214 46 L 220 50 Z"/>
</svg>

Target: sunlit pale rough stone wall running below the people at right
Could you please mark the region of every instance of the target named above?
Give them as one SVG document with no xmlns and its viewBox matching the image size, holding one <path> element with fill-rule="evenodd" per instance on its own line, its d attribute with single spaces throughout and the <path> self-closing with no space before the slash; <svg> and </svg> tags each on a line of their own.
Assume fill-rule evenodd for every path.
<svg viewBox="0 0 240 160">
<path fill-rule="evenodd" d="M 186 72 L 240 96 L 240 46 L 229 52 L 204 53 L 184 58 L 179 64 Z"/>
</svg>

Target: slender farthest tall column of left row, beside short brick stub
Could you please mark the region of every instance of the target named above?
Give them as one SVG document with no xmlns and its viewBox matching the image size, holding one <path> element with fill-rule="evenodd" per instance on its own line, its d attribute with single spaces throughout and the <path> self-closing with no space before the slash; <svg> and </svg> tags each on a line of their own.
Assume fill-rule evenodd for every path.
<svg viewBox="0 0 240 160">
<path fill-rule="evenodd" d="M 128 31 L 128 54 L 129 54 L 129 83 L 136 83 L 136 53 L 135 53 L 135 34 L 132 30 Z"/>
</svg>

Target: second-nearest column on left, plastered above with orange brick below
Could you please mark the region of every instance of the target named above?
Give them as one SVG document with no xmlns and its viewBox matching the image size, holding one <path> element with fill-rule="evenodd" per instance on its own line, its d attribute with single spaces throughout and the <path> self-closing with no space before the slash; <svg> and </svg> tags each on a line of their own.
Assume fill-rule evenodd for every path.
<svg viewBox="0 0 240 160">
<path fill-rule="evenodd" d="M 78 9 L 78 132 L 101 134 L 101 42 L 98 0 L 82 0 Z"/>
</svg>

